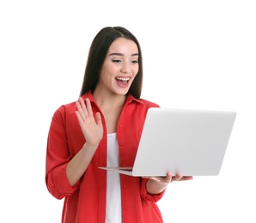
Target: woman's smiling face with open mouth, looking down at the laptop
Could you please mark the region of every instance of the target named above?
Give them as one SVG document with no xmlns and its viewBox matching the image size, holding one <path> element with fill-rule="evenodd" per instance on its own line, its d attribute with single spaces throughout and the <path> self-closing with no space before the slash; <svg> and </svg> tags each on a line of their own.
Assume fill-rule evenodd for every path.
<svg viewBox="0 0 256 223">
<path fill-rule="evenodd" d="M 102 64 L 96 88 L 106 93 L 125 95 L 138 72 L 138 49 L 130 39 L 115 39 Z"/>
</svg>

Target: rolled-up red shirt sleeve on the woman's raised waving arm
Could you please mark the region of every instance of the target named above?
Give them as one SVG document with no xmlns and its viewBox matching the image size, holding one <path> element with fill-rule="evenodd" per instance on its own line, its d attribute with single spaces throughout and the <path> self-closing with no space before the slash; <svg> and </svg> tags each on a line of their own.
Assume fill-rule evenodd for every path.
<svg viewBox="0 0 256 223">
<path fill-rule="evenodd" d="M 70 186 L 66 166 L 70 152 L 64 130 L 64 108 L 59 108 L 52 117 L 46 150 L 46 186 L 52 196 L 62 199 L 79 188 L 79 181 Z"/>
</svg>

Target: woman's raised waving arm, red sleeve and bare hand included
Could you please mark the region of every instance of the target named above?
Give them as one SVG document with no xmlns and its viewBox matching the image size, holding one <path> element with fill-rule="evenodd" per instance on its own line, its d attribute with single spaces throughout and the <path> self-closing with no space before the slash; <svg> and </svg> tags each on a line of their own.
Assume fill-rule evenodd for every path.
<svg viewBox="0 0 256 223">
<path fill-rule="evenodd" d="M 97 145 L 103 136 L 101 115 L 96 114 L 94 119 L 91 111 L 89 111 L 89 114 L 88 111 L 83 111 L 86 107 L 82 99 L 79 99 L 79 102 L 76 103 L 76 107 L 76 117 L 81 126 L 82 135 L 86 137 L 86 143 L 82 145 L 84 142 L 82 139 L 79 142 L 79 145 L 82 145 L 81 151 L 73 158 L 70 157 L 70 149 L 66 136 L 67 130 L 65 129 L 66 124 L 64 122 L 66 112 L 64 106 L 61 106 L 58 111 L 54 113 L 48 134 L 46 150 L 46 186 L 52 196 L 58 199 L 62 199 L 67 194 L 72 194 L 79 188 L 79 179 L 86 171 L 98 147 Z M 89 107 L 88 109 L 91 110 Z M 88 120 L 91 121 L 83 120 L 86 118 L 83 114 L 84 112 L 87 114 Z M 76 117 L 74 121 L 76 121 Z M 88 124 L 92 126 L 90 127 Z"/>
</svg>

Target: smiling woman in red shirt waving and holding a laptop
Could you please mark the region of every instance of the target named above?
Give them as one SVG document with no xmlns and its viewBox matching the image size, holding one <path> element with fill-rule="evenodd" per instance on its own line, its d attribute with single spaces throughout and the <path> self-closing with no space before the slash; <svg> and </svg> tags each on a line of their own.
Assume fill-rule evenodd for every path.
<svg viewBox="0 0 256 223">
<path fill-rule="evenodd" d="M 140 99 L 143 60 L 136 37 L 105 27 L 88 53 L 78 101 L 55 111 L 46 152 L 46 185 L 64 198 L 62 222 L 162 222 L 156 202 L 170 182 L 134 178 L 99 166 L 132 166 L 149 107 Z"/>
</svg>

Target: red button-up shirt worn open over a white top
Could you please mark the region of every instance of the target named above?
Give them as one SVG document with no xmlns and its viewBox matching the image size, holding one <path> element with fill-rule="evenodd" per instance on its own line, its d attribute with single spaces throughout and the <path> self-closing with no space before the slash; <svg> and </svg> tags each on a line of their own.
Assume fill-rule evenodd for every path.
<svg viewBox="0 0 256 223">
<path fill-rule="evenodd" d="M 90 99 L 94 113 L 101 112 L 91 93 L 85 93 L 82 98 Z M 146 113 L 149 107 L 156 106 L 159 105 L 131 95 L 127 97 L 117 126 L 120 166 L 133 166 Z M 85 142 L 75 111 L 73 102 L 60 106 L 52 117 L 46 151 L 46 186 L 52 196 L 64 198 L 62 222 L 105 223 L 107 172 L 98 168 L 107 166 L 105 120 L 101 113 L 103 138 L 82 178 L 70 187 L 65 169 Z M 120 174 L 123 223 L 163 222 L 156 202 L 164 191 L 150 195 L 146 182 L 144 178 Z"/>
</svg>

